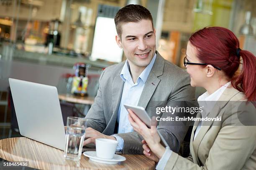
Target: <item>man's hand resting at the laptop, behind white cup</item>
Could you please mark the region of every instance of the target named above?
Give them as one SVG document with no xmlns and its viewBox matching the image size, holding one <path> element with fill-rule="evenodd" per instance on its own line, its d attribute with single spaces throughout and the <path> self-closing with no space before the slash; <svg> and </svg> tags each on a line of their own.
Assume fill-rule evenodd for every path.
<svg viewBox="0 0 256 170">
<path fill-rule="evenodd" d="M 94 130 L 92 128 L 86 128 L 85 129 L 85 139 L 86 140 L 84 140 L 84 145 L 87 145 L 89 143 L 95 143 L 95 139 L 97 139 L 97 138 L 105 138 L 105 139 L 116 140 L 115 137 L 104 135 L 104 134 L 102 134 L 102 133 L 100 133 L 97 130 Z"/>
</svg>

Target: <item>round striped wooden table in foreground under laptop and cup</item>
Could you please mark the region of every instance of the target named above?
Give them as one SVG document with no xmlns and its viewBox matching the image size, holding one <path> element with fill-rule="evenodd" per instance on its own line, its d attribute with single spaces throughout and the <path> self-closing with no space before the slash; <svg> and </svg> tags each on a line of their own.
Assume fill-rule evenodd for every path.
<svg viewBox="0 0 256 170">
<path fill-rule="evenodd" d="M 123 155 L 126 160 L 116 165 L 95 163 L 84 155 L 80 161 L 66 160 L 63 151 L 26 137 L 0 140 L 0 157 L 10 162 L 28 161 L 37 169 L 69 170 L 153 170 L 155 163 L 145 155 Z"/>
</svg>

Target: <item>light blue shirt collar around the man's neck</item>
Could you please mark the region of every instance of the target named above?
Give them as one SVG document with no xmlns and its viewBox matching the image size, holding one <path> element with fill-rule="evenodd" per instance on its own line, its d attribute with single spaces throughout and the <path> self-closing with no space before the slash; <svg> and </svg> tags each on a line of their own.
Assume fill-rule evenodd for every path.
<svg viewBox="0 0 256 170">
<path fill-rule="evenodd" d="M 141 79 L 144 83 L 146 82 L 148 75 L 154 65 L 154 62 L 156 60 L 156 53 L 154 57 L 152 58 L 151 62 L 146 66 L 146 68 L 141 72 L 141 75 L 139 75 L 137 82 L 139 79 Z M 123 69 L 121 70 L 120 77 L 125 82 L 126 80 L 132 80 L 131 74 L 130 74 L 130 66 L 128 60 L 125 61 L 125 64 L 123 66 Z"/>
</svg>

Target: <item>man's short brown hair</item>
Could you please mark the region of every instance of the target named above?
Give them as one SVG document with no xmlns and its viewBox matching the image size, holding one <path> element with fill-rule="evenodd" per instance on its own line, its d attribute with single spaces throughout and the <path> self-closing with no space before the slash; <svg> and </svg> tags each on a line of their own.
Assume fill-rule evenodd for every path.
<svg viewBox="0 0 256 170">
<path fill-rule="evenodd" d="M 115 28 L 119 36 L 122 34 L 122 23 L 138 23 L 141 20 L 151 20 L 153 26 L 153 18 L 151 13 L 146 7 L 141 5 L 126 5 L 122 7 L 115 15 Z M 120 37 L 121 38 L 121 37 Z"/>
</svg>

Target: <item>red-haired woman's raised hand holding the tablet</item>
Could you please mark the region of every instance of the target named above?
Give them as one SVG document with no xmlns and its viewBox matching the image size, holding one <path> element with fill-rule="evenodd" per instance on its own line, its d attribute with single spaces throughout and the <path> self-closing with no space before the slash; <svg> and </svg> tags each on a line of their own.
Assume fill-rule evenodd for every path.
<svg viewBox="0 0 256 170">
<path fill-rule="evenodd" d="M 164 155 L 165 148 L 160 144 L 160 137 L 157 134 L 156 129 L 156 119 L 152 119 L 151 128 L 148 128 L 145 123 L 143 123 L 133 111 L 128 109 L 128 119 L 133 126 L 133 129 L 141 134 L 141 136 L 146 140 L 146 143 L 150 150 L 160 159 Z M 145 146 L 144 146 L 145 147 Z M 144 149 L 145 150 L 145 149 Z"/>
</svg>

